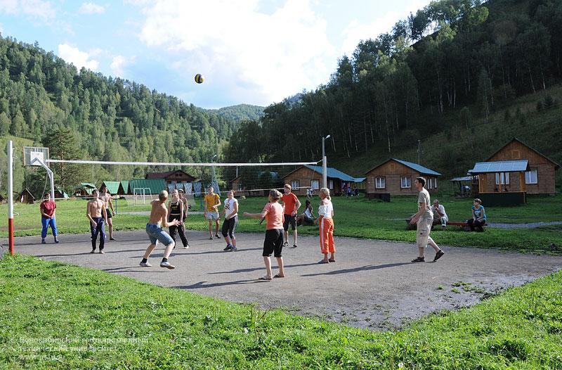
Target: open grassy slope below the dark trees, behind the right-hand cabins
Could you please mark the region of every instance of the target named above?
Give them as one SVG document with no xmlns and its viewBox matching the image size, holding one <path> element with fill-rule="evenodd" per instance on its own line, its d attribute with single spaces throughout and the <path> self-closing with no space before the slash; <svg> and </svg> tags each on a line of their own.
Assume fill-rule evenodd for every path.
<svg viewBox="0 0 562 370">
<path fill-rule="evenodd" d="M 552 106 L 544 107 L 545 99 Z M 514 99 L 488 117 L 473 117 L 463 123 L 459 112 L 447 113 L 439 126 L 421 141 L 421 165 L 445 174 L 446 178 L 464 176 L 474 162 L 485 160 L 509 140 L 517 137 L 558 164 L 562 163 L 562 86 Z M 540 108 L 539 108 L 540 107 Z M 478 107 L 467 107 L 477 110 Z M 398 149 L 388 155 L 384 147 L 371 147 L 355 158 L 329 155 L 331 167 L 345 168 L 360 176 L 388 158 L 418 162 L 417 137 L 404 136 Z M 558 189 L 562 171 L 556 173 Z"/>
</svg>

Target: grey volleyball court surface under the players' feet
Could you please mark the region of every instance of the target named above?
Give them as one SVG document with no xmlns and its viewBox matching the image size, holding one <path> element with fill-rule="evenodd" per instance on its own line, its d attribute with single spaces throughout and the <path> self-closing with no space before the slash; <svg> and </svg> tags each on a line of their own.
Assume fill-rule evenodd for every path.
<svg viewBox="0 0 562 370">
<path fill-rule="evenodd" d="M 413 234 L 412 234 L 413 236 Z M 445 247 L 436 263 L 412 264 L 414 244 L 336 238 L 337 262 L 320 260 L 318 238 L 299 238 L 299 248 L 284 249 L 287 278 L 261 282 L 263 234 L 239 234 L 237 253 L 222 251 L 222 240 L 210 241 L 200 231 L 189 231 L 192 248 L 176 248 L 170 261 L 175 270 L 158 267 L 162 248 L 150 262 L 141 261 L 148 240 L 144 231 L 115 234 L 106 254 L 92 255 L 89 234 L 62 235 L 60 244 L 41 245 L 39 237 L 16 238 L 18 253 L 36 255 L 130 276 L 234 302 L 256 302 L 261 307 L 288 307 L 303 315 L 367 328 L 401 326 L 438 310 L 473 305 L 483 297 L 562 268 L 562 256 L 537 256 L 499 250 Z M 2 239 L 6 244 L 6 240 Z M 433 260 L 433 251 L 427 251 Z M 275 263 L 274 263 L 275 264 Z M 452 292 L 452 284 L 469 283 Z"/>
</svg>

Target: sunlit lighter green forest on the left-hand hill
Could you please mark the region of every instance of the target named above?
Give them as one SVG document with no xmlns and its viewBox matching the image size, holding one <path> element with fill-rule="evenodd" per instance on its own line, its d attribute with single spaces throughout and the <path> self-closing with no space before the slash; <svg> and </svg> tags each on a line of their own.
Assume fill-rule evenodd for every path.
<svg viewBox="0 0 562 370">
<path fill-rule="evenodd" d="M 0 136 L 48 146 L 51 158 L 209 162 L 221 155 L 241 120 L 259 120 L 260 115 L 262 107 L 249 105 L 198 108 L 143 84 L 77 70 L 37 42 L 0 37 Z M 4 158 L 2 153 L 0 159 Z M 61 177 L 59 167 L 64 166 L 55 167 L 56 183 L 67 191 L 80 181 L 98 184 L 168 170 L 70 166 L 72 176 Z M 0 191 L 5 194 L 6 181 L 1 179 L 6 179 L 6 165 L 0 168 Z M 44 188 L 44 179 L 41 170 L 16 171 L 14 189 L 27 186 L 37 193 Z"/>
</svg>

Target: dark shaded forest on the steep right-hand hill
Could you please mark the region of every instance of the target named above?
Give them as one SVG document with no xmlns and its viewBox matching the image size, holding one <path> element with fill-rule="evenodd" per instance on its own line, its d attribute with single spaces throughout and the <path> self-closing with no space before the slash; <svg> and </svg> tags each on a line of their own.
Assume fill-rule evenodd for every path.
<svg viewBox="0 0 562 370">
<path fill-rule="evenodd" d="M 390 158 L 436 132 L 461 142 L 452 135 L 459 131 L 455 125 L 468 129 L 476 117 L 486 122 L 518 96 L 558 84 L 561 51 L 561 1 L 431 1 L 391 32 L 365 39 L 352 56 L 342 56 L 326 84 L 296 101 L 268 106 L 259 122 L 243 122 L 226 157 L 320 159 L 321 138 L 328 134 L 328 158 L 350 160 L 373 148 Z M 477 154 L 483 158 L 485 153 Z M 454 161 L 429 162 L 454 174 Z"/>
</svg>

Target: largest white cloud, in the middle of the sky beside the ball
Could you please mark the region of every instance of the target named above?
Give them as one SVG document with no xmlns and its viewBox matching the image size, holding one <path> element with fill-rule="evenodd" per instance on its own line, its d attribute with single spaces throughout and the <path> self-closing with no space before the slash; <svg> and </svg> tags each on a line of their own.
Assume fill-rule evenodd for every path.
<svg viewBox="0 0 562 370">
<path fill-rule="evenodd" d="M 268 14 L 258 8 L 258 0 L 157 0 L 143 8 L 140 38 L 186 80 L 203 73 L 235 100 L 268 104 L 326 82 L 332 71 L 322 60 L 336 53 L 311 2 L 288 0 Z"/>
</svg>

